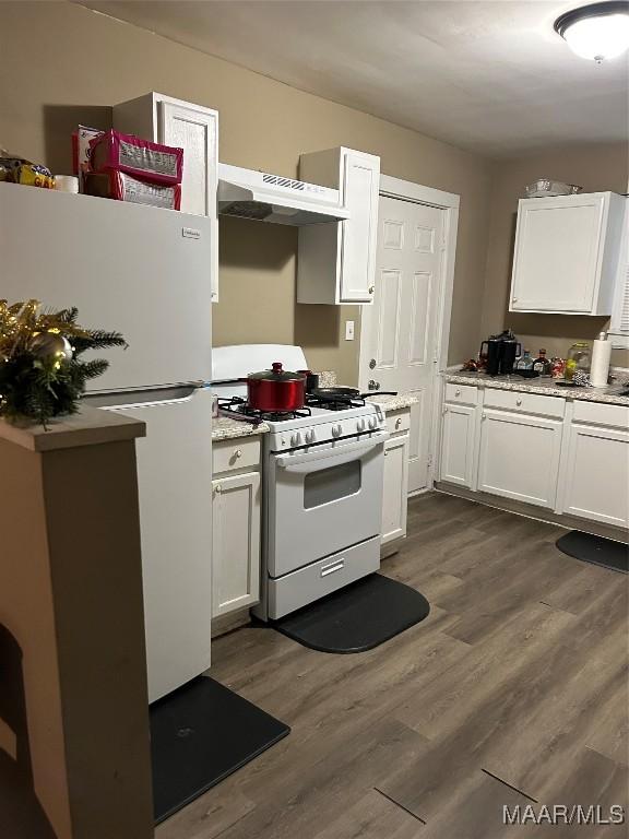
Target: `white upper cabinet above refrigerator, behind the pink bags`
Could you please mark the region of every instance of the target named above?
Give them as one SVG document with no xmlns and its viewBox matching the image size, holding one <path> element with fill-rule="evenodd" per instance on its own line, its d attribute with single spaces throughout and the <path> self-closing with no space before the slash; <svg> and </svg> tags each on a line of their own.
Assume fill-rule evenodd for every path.
<svg viewBox="0 0 629 839">
<path fill-rule="evenodd" d="M 114 107 L 114 128 L 145 140 L 183 149 L 181 211 L 212 218 L 212 302 L 218 302 L 218 113 L 212 108 L 147 93 Z"/>
</svg>

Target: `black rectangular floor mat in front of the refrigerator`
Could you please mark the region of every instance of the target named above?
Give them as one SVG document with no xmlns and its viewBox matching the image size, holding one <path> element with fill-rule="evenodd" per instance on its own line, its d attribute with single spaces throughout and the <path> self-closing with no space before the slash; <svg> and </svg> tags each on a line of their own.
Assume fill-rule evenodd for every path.
<svg viewBox="0 0 629 839">
<path fill-rule="evenodd" d="M 151 706 L 155 822 L 258 757 L 290 732 L 247 699 L 200 676 Z"/>
</svg>

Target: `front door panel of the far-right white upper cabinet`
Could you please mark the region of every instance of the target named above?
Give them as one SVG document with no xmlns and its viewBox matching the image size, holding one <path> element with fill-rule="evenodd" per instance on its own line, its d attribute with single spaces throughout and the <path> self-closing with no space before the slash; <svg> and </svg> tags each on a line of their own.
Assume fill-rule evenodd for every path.
<svg viewBox="0 0 629 839">
<path fill-rule="evenodd" d="M 520 201 L 512 311 L 593 310 L 604 210 L 600 194 Z"/>
</svg>

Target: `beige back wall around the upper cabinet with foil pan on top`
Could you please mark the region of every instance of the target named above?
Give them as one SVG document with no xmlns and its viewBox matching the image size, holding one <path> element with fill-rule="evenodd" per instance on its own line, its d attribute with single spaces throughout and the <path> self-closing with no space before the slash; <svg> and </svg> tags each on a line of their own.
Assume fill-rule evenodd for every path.
<svg viewBox="0 0 629 839">
<path fill-rule="evenodd" d="M 591 341 L 606 328 L 607 318 L 509 312 L 515 214 L 518 199 L 522 197 L 525 185 L 536 178 L 550 177 L 568 184 L 579 184 L 585 192 L 626 192 L 628 152 L 626 143 L 585 145 L 495 164 L 482 319 L 483 336 L 511 327 L 532 353 L 544 347 L 551 355 L 565 356 L 574 341 Z M 614 351 L 612 363 L 629 366 L 629 353 Z"/>
</svg>

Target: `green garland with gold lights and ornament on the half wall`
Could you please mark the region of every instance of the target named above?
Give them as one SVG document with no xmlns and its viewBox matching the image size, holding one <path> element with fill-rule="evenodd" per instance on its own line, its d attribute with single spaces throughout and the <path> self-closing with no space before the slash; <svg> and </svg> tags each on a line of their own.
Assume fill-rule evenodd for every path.
<svg viewBox="0 0 629 839">
<path fill-rule="evenodd" d="M 37 300 L 0 300 L 0 416 L 46 423 L 74 414 L 86 382 L 105 373 L 105 358 L 81 361 L 87 350 L 127 346 L 119 332 L 84 329 L 76 308 L 41 310 Z"/>
</svg>

